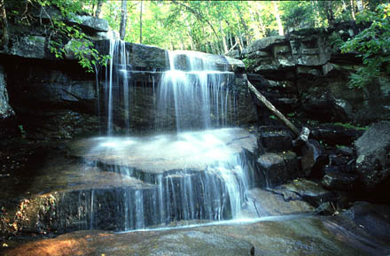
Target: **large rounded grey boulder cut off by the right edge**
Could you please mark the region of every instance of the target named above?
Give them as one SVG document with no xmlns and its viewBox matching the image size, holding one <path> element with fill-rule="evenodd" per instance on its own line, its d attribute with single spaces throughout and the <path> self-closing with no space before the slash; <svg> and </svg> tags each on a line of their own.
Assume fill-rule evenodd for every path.
<svg viewBox="0 0 390 256">
<path fill-rule="evenodd" d="M 390 121 L 372 125 L 355 142 L 356 170 L 363 186 L 374 189 L 390 176 Z"/>
</svg>

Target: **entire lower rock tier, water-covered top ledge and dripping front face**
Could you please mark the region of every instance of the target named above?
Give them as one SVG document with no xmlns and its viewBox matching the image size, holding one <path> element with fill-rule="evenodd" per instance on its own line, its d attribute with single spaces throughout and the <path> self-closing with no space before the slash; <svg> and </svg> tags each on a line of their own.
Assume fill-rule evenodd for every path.
<svg viewBox="0 0 390 256">
<path fill-rule="evenodd" d="M 185 143 L 188 136 L 205 136 L 207 144 Z M 73 160 L 53 159 L 32 182 L 32 196 L 15 219 L 19 231 L 123 231 L 231 219 L 253 186 L 257 155 L 254 136 L 243 129 L 92 138 L 69 148 Z"/>
</svg>

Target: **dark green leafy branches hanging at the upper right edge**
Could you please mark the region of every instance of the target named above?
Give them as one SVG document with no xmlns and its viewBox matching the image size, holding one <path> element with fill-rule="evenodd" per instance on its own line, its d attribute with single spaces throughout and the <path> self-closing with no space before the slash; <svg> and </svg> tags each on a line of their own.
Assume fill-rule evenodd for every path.
<svg viewBox="0 0 390 256">
<path fill-rule="evenodd" d="M 379 4 L 374 12 L 365 10 L 357 22 L 370 22 L 370 27 L 350 39 L 341 51 L 355 51 L 363 66 L 351 75 L 350 86 L 360 88 L 375 77 L 390 74 L 390 4 Z"/>
</svg>

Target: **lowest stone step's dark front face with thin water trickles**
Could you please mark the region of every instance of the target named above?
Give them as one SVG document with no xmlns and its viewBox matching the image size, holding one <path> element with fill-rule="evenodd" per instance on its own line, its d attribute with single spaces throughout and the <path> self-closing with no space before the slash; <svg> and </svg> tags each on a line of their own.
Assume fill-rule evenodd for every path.
<svg viewBox="0 0 390 256">
<path fill-rule="evenodd" d="M 218 175 L 166 175 L 159 184 L 77 164 L 37 177 L 37 192 L 10 209 L 16 231 L 131 230 L 175 221 L 231 219 L 229 187 Z M 44 183 L 49 182 L 48 186 Z M 243 191 L 237 191 L 239 202 Z M 21 209 L 21 210 L 20 210 Z M 15 213 L 12 213 L 12 210 Z M 13 230 L 15 231 L 15 230 Z"/>
</svg>

